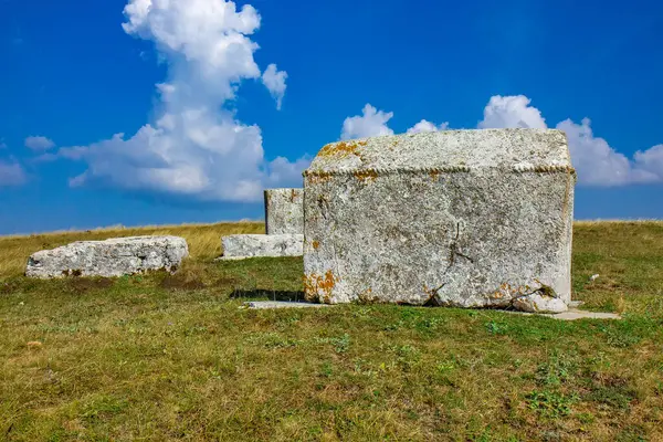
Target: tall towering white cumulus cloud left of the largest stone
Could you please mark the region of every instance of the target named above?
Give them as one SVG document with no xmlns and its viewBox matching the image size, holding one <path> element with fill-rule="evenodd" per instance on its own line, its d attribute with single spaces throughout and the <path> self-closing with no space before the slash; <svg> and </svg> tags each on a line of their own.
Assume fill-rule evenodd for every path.
<svg viewBox="0 0 663 442">
<path fill-rule="evenodd" d="M 127 34 L 155 43 L 168 62 L 157 85 L 155 122 L 60 157 L 85 161 L 72 186 L 103 185 L 199 200 L 260 200 L 265 186 L 301 186 L 306 158 L 265 160 L 261 129 L 238 120 L 233 99 L 243 80 L 261 78 L 281 105 L 287 74 L 254 61 L 251 36 L 261 18 L 225 0 L 130 0 Z"/>
</svg>

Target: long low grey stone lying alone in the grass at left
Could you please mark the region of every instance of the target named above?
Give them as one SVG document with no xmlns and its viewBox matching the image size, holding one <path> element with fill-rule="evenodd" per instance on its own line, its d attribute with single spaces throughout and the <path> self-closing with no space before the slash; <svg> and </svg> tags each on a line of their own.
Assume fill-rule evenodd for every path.
<svg viewBox="0 0 663 442">
<path fill-rule="evenodd" d="M 78 241 L 30 256 L 30 277 L 122 276 L 149 270 L 175 271 L 188 256 L 179 236 L 129 236 L 105 241 Z"/>
</svg>

